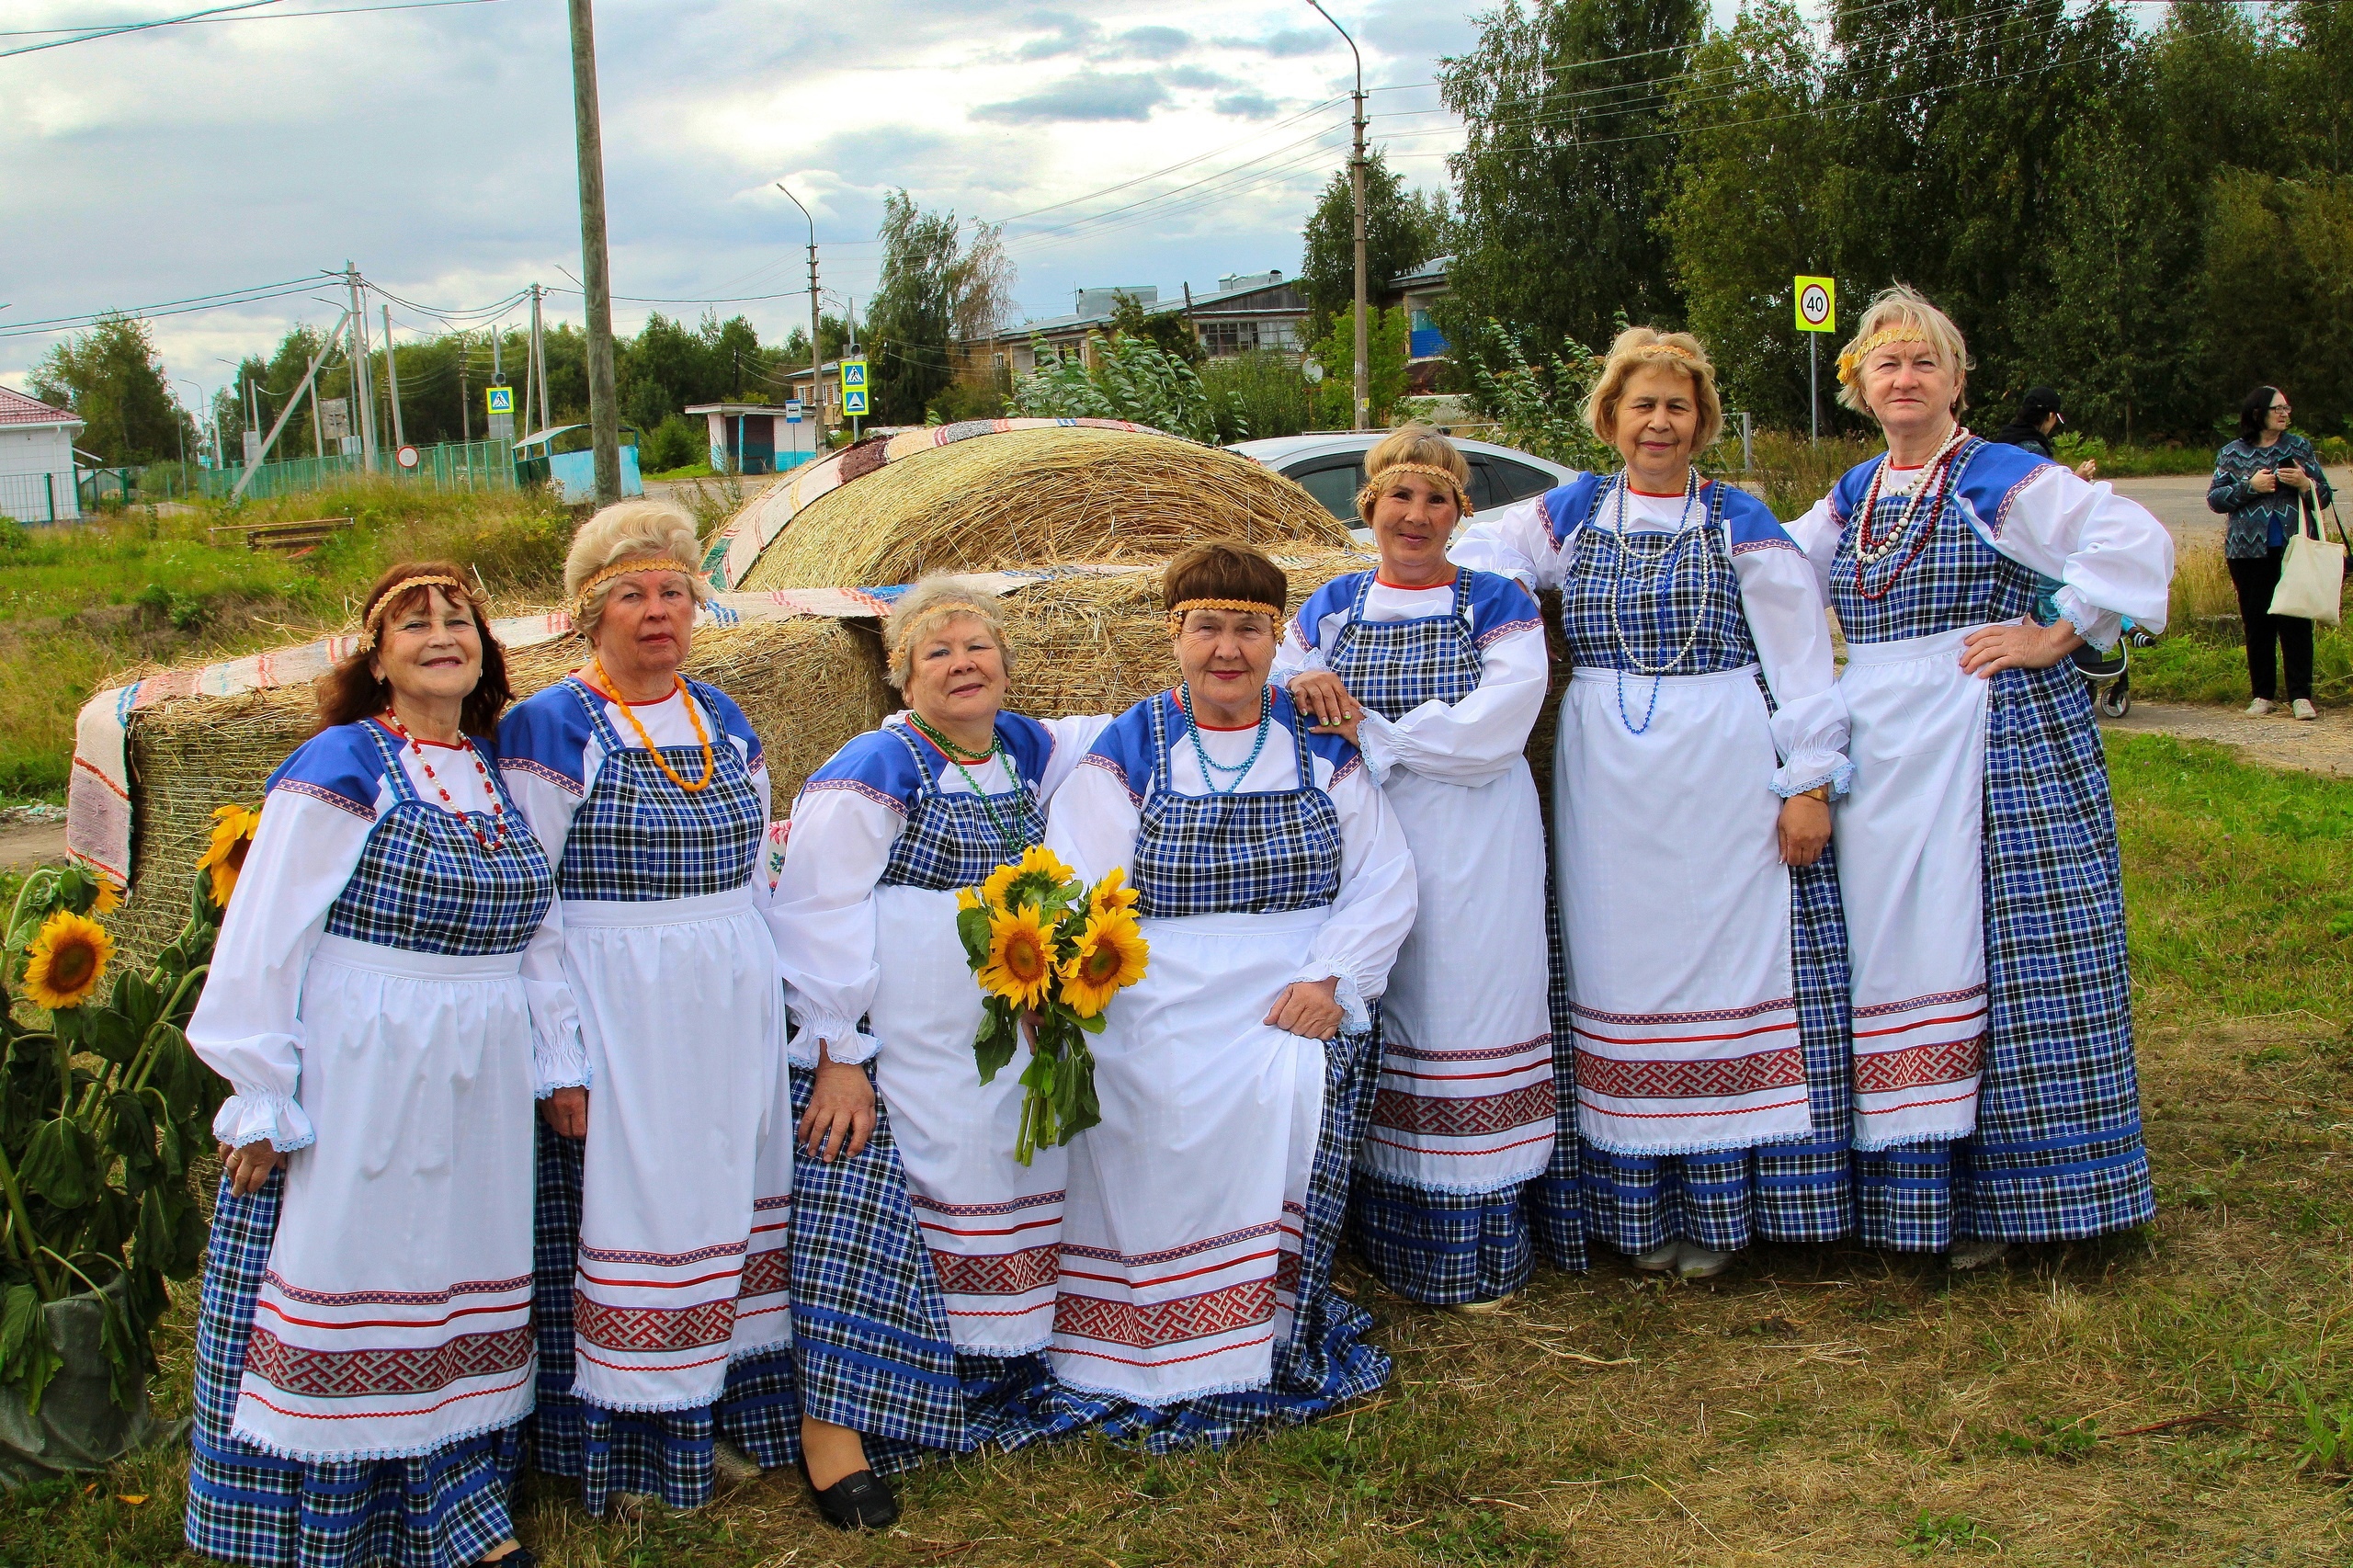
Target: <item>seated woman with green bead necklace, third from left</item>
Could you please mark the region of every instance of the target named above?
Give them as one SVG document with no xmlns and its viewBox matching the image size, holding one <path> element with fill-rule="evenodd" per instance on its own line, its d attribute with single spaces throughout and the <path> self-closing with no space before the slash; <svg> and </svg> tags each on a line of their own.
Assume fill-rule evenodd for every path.
<svg viewBox="0 0 2353 1568">
<path fill-rule="evenodd" d="M 802 786 L 776 883 L 800 1434 L 819 1509 L 866 1528 L 899 1516 L 875 1467 L 1042 1434 L 1068 1149 L 1014 1161 L 1024 1090 L 979 1081 L 955 895 L 1045 841 L 1108 723 L 1005 713 L 1005 629 L 953 577 L 908 589 L 885 640 L 908 706 Z"/>
</svg>

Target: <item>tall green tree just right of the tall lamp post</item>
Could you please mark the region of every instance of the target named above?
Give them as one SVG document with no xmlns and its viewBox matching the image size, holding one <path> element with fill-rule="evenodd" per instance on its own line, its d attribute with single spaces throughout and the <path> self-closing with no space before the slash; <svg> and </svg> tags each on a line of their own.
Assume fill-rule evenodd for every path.
<svg viewBox="0 0 2353 1568">
<path fill-rule="evenodd" d="M 1504 0 L 1438 66 L 1464 118 L 1454 264 L 1438 318 L 1475 353 L 1487 318 L 1539 353 L 1605 341 L 1617 315 L 1682 315 L 1659 210 L 1675 160 L 1666 85 L 1699 42 L 1697 0 Z"/>
</svg>

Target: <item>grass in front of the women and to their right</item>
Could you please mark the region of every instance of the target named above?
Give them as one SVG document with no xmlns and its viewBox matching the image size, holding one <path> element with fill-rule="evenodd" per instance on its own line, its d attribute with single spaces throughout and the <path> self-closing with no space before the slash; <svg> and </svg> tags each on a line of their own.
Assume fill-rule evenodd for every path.
<svg viewBox="0 0 2353 1568">
<path fill-rule="evenodd" d="M 2353 1516 L 2353 782 L 2115 737 L 2160 1220 L 1951 1276 L 1758 1248 L 1713 1285 L 1617 1260 L 1497 1318 L 1344 1283 L 1388 1389 L 1224 1455 L 988 1455 L 904 1483 L 899 1530 L 798 1481 L 525 1540 L 565 1568 L 1176 1563 L 2344 1563 Z M 191 1290 L 193 1297 L 193 1290 Z M 191 1311 L 158 1396 L 186 1406 Z M 0 1563 L 158 1563 L 184 1455 L 0 1500 Z M 136 1497 L 139 1502 L 129 1502 Z"/>
</svg>

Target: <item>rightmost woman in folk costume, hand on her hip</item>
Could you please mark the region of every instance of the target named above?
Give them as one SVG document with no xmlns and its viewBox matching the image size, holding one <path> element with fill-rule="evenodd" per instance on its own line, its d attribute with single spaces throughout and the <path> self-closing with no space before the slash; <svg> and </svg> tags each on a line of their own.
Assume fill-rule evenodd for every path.
<svg viewBox="0 0 2353 1568">
<path fill-rule="evenodd" d="M 2160 629 L 2174 570 L 2134 501 L 1960 428 L 1967 374 L 1937 306 L 1882 292 L 1838 400 L 1887 454 L 1791 525 L 1847 633 L 1861 1234 L 1955 1267 L 2155 1212 L 2115 812 L 2068 652 L 2125 614 Z"/>
</svg>

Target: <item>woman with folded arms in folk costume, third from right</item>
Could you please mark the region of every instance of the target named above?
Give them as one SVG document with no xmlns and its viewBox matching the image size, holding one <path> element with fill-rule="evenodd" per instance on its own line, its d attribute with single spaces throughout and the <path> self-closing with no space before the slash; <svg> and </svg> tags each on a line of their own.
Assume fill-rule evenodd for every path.
<svg viewBox="0 0 2353 1568">
<path fill-rule="evenodd" d="M 1355 742 L 1414 852 L 1419 909 L 1381 998 L 1381 1088 L 1353 1234 L 1398 1293 L 1487 1309 L 1534 1267 L 1527 1182 L 1553 1156 L 1544 815 L 1527 732 L 1548 655 L 1537 600 L 1447 560 L 1471 464 L 1428 426 L 1365 457 L 1381 565 L 1285 622 L 1275 680 Z"/>
</svg>

